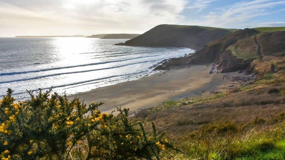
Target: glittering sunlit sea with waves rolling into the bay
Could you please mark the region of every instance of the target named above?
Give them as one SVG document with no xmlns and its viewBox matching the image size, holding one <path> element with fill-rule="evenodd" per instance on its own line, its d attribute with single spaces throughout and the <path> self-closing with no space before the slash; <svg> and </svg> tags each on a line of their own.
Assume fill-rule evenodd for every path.
<svg viewBox="0 0 285 160">
<path fill-rule="evenodd" d="M 16 100 L 28 91 L 53 87 L 67 95 L 150 76 L 164 59 L 189 48 L 115 46 L 128 39 L 0 38 L 0 96 L 11 88 Z"/>
</svg>

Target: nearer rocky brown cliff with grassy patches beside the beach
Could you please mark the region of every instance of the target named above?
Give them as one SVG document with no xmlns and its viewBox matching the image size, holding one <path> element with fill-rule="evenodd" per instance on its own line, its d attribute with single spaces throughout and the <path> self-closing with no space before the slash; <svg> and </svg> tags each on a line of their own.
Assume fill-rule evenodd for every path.
<svg viewBox="0 0 285 160">
<path fill-rule="evenodd" d="M 210 73 L 224 73 L 244 70 L 255 59 L 284 55 L 285 31 L 260 33 L 254 29 L 244 29 L 208 43 L 193 55 L 164 61 L 155 69 L 212 64 Z"/>
</svg>

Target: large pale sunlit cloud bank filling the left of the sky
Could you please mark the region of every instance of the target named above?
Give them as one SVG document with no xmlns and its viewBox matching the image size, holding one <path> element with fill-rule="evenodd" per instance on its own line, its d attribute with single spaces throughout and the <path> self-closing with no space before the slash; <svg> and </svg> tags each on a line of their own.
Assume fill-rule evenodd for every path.
<svg viewBox="0 0 285 160">
<path fill-rule="evenodd" d="M 186 3 L 186 0 L 0 0 L 0 30 L 11 36 L 142 33 L 158 24 L 182 20 L 180 13 Z"/>
</svg>

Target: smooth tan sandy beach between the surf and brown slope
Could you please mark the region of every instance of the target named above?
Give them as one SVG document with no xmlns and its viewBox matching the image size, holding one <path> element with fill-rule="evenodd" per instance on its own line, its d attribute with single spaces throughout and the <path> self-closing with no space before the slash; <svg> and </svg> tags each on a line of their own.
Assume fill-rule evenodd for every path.
<svg viewBox="0 0 285 160">
<path fill-rule="evenodd" d="M 230 80 L 223 79 L 223 75 L 243 76 L 242 73 L 208 74 L 208 71 L 208 66 L 161 71 L 140 80 L 93 89 L 71 95 L 69 98 L 77 96 L 87 104 L 93 101 L 105 103 L 100 106 L 103 112 L 110 112 L 116 106 L 130 108 L 133 112 L 164 101 L 198 96 L 197 93 L 201 92 L 208 94 L 213 90 L 222 90 L 232 83 Z"/>
</svg>

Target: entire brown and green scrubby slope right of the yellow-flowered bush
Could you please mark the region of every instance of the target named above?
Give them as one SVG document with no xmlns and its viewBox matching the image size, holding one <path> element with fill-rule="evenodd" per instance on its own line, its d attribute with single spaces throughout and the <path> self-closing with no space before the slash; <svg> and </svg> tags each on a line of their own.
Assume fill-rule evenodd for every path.
<svg viewBox="0 0 285 160">
<path fill-rule="evenodd" d="M 252 84 L 164 102 L 131 119 L 167 131 L 181 152 L 164 159 L 285 159 L 284 73 L 268 72 L 256 71 Z"/>
</svg>

